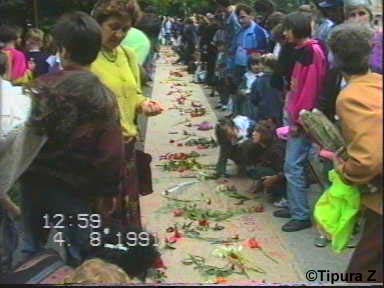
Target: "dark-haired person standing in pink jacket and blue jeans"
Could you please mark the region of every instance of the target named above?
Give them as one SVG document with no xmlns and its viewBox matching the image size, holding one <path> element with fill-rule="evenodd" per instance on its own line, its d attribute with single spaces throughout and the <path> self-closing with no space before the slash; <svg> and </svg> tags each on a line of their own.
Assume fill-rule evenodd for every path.
<svg viewBox="0 0 384 288">
<path fill-rule="evenodd" d="M 306 177 L 312 144 L 300 126 L 299 113 L 302 109 L 312 110 L 317 107 L 328 63 L 325 48 L 318 40 L 311 39 L 311 21 L 309 13 L 294 12 L 288 14 L 283 22 L 285 37 L 289 43 L 294 44 L 297 55 L 284 108 L 288 131 L 284 174 L 289 209 L 274 213 L 276 217 L 291 218 L 282 227 L 285 232 L 299 231 L 312 225 Z"/>
</svg>

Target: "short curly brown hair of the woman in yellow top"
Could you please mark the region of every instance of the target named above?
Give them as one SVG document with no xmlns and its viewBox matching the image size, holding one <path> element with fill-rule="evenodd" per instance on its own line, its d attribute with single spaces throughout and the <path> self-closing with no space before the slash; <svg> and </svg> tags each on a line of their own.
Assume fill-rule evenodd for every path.
<svg viewBox="0 0 384 288">
<path fill-rule="evenodd" d="M 99 0 L 91 15 L 99 24 L 110 17 L 128 18 L 135 26 L 141 18 L 141 9 L 136 0 Z"/>
</svg>

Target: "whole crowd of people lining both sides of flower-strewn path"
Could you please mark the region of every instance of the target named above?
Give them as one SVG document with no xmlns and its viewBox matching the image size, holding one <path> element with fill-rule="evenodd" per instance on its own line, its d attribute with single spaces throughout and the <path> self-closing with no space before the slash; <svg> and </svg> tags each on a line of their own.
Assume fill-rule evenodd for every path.
<svg viewBox="0 0 384 288">
<path fill-rule="evenodd" d="M 100 0 L 89 14 L 63 15 L 50 33 L 0 26 L 0 212 L 10 219 L 2 222 L 7 243 L 20 236 L 12 219 L 22 219 L 24 259 L 44 249 L 54 227 L 70 244 L 66 263 L 80 275 L 106 261 L 119 279 L 144 280 L 161 264 L 154 245 L 126 250 L 113 233 L 90 245 L 102 226 L 46 221 L 101 215 L 116 231 L 145 232 L 139 198 L 153 192 L 151 156 L 136 148 L 137 117 L 164 111 L 142 92 L 160 43 L 172 46 L 175 64 L 186 65 L 227 113 L 216 126 L 216 176 L 228 177 L 233 160 L 255 180 L 254 192 L 270 192 L 280 208 L 274 216 L 289 219 L 283 231 L 313 225 L 310 157 L 322 159 L 325 174 L 336 169 L 350 185 L 378 188 L 362 197 L 364 231 L 348 271 L 368 277 L 376 270 L 382 282 L 382 27 L 369 1 L 317 1 L 289 14 L 270 1 L 232 2 L 216 0 L 206 15 L 161 19 L 134 0 Z M 304 131 L 300 112 L 314 108 L 340 127 L 348 160 Z M 16 182 L 21 207 L 8 195 Z M 15 249 L 7 245 L 2 270 Z"/>
</svg>

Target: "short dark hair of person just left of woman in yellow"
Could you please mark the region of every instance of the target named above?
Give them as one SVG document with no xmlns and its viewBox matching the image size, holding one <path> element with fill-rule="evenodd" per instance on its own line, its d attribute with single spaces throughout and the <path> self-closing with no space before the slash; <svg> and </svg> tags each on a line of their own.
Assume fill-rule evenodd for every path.
<svg viewBox="0 0 384 288">
<path fill-rule="evenodd" d="M 58 49 L 69 53 L 70 59 L 83 66 L 92 64 L 101 49 L 101 28 L 84 12 L 64 15 L 53 28 Z"/>
</svg>

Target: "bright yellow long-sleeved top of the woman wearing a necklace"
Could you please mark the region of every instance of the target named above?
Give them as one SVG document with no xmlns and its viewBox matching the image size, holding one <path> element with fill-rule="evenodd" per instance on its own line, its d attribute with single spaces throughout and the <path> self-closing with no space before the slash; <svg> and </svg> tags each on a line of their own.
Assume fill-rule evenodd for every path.
<svg viewBox="0 0 384 288">
<path fill-rule="evenodd" d="M 147 100 L 141 91 L 140 69 L 132 50 L 119 46 L 116 51 L 115 61 L 99 52 L 91 71 L 116 95 L 124 136 L 137 136 L 137 108 Z"/>
</svg>

